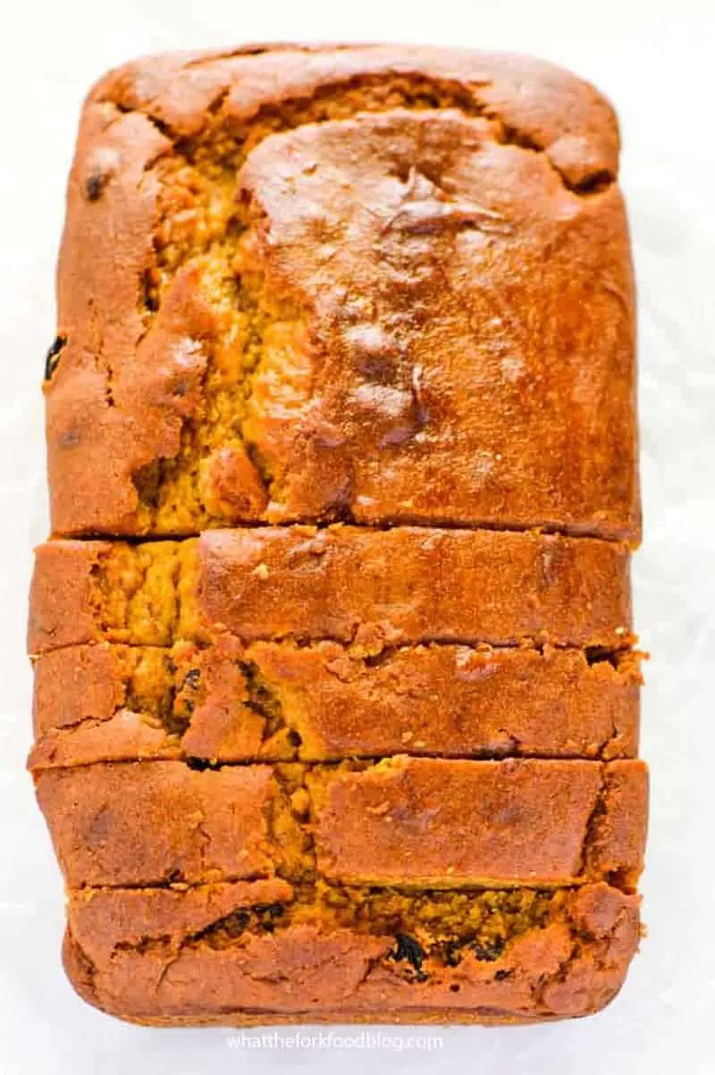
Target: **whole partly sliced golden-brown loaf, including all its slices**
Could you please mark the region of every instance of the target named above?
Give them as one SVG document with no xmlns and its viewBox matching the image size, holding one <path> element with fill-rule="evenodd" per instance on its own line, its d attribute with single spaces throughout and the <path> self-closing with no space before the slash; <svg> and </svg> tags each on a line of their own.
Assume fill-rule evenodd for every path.
<svg viewBox="0 0 715 1075">
<path fill-rule="evenodd" d="M 245 47 L 90 92 L 28 642 L 90 1003 L 529 1022 L 620 988 L 647 774 L 618 148 L 520 56 Z"/>
</svg>

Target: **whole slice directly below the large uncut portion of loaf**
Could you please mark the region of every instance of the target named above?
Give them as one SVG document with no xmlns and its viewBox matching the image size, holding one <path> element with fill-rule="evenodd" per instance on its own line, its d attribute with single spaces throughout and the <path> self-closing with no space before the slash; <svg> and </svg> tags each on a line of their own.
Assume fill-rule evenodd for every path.
<svg viewBox="0 0 715 1075">
<path fill-rule="evenodd" d="M 621 646 L 629 555 L 591 539 L 398 527 L 256 528 L 41 546 L 28 647 L 240 637 Z"/>
</svg>

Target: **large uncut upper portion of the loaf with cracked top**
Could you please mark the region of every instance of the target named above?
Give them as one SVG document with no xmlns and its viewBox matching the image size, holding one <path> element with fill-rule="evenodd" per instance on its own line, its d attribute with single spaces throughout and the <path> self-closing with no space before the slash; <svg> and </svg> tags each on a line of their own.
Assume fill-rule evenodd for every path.
<svg viewBox="0 0 715 1075">
<path fill-rule="evenodd" d="M 451 519 L 637 543 L 617 156 L 610 105 L 524 57 L 113 72 L 70 180 L 54 531 Z"/>
</svg>

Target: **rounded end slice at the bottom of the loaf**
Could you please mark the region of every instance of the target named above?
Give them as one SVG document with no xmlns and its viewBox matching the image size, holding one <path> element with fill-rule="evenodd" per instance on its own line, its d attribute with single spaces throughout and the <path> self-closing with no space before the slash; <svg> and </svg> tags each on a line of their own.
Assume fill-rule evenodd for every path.
<svg viewBox="0 0 715 1075">
<path fill-rule="evenodd" d="M 280 880 L 90 889 L 70 895 L 63 958 L 85 1000 L 137 1022 L 529 1022 L 617 993 L 638 908 L 603 883 L 311 903 Z"/>
</svg>

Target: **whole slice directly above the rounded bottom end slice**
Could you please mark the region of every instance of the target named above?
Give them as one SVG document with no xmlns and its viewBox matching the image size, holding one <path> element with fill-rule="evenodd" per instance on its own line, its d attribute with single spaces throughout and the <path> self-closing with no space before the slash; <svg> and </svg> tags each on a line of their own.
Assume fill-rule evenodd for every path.
<svg viewBox="0 0 715 1075">
<path fill-rule="evenodd" d="M 44 771 L 37 789 L 71 888 L 316 872 L 364 885 L 618 877 L 632 888 L 642 869 L 640 761 L 97 763 Z"/>
</svg>

